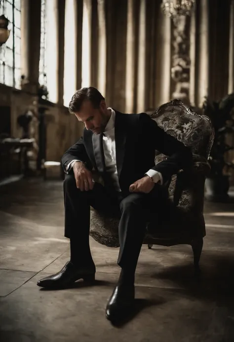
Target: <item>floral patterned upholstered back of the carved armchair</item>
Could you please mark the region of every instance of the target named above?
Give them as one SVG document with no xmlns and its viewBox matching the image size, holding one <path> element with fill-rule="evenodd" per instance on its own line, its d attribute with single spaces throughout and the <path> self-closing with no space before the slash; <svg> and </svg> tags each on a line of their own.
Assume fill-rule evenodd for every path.
<svg viewBox="0 0 234 342">
<path fill-rule="evenodd" d="M 208 166 L 204 165 L 203 173 L 201 164 L 202 159 L 205 163 L 207 162 L 214 141 L 214 129 L 209 117 L 192 112 L 181 100 L 177 99 L 161 105 L 150 116 L 165 132 L 191 147 L 194 161 L 199 162 L 199 167 L 193 169 L 190 180 L 188 175 L 186 177 L 184 175 L 172 176 L 168 190 L 176 205 L 187 206 L 190 209 L 194 207 L 202 212 L 205 172 L 207 173 Z M 156 152 L 155 162 L 158 163 L 165 157 Z"/>
</svg>

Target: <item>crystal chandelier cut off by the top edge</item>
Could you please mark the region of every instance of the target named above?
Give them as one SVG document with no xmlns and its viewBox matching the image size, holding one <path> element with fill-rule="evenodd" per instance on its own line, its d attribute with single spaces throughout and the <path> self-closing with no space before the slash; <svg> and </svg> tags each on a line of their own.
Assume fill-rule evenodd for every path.
<svg viewBox="0 0 234 342">
<path fill-rule="evenodd" d="M 169 17 L 190 15 L 195 0 L 162 0 L 162 11 Z"/>
</svg>

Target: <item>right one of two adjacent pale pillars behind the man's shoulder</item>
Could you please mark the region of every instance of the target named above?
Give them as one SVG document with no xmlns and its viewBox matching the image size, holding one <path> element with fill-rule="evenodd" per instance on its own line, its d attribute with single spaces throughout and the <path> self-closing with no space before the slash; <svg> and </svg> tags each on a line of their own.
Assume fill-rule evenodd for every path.
<svg viewBox="0 0 234 342">
<path fill-rule="evenodd" d="M 146 111 L 146 0 L 140 0 L 138 71 L 137 71 L 137 113 Z"/>
</svg>

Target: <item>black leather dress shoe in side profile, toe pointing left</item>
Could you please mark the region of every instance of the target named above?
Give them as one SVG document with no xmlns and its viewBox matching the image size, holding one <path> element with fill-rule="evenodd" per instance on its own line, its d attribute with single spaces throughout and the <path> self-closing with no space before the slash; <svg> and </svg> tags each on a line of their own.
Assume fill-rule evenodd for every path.
<svg viewBox="0 0 234 342">
<path fill-rule="evenodd" d="M 95 271 L 94 265 L 90 268 L 81 269 L 68 261 L 60 272 L 40 279 L 37 285 L 45 288 L 63 288 L 71 285 L 78 279 L 92 282 L 95 280 Z"/>
</svg>

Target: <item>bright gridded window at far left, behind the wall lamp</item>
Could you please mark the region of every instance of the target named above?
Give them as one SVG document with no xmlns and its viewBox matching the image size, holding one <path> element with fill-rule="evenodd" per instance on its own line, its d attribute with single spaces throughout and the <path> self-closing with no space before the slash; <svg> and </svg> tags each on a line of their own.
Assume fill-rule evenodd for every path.
<svg viewBox="0 0 234 342">
<path fill-rule="evenodd" d="M 20 0 L 0 0 L 0 15 L 9 20 L 10 36 L 0 47 L 0 83 L 20 89 Z"/>
</svg>

